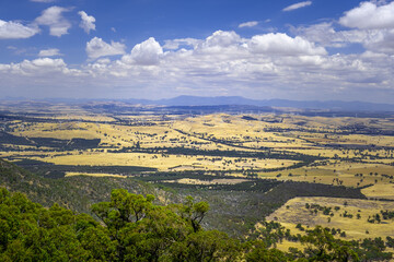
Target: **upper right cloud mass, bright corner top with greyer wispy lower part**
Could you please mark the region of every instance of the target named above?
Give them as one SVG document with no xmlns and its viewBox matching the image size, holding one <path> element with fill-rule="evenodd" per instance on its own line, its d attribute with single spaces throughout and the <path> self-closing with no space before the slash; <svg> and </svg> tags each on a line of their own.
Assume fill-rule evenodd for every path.
<svg viewBox="0 0 394 262">
<path fill-rule="evenodd" d="M 349 29 L 336 29 L 340 24 Z M 372 52 L 394 53 L 394 2 L 362 2 L 336 22 L 291 28 L 296 35 L 324 47 L 343 48 L 360 44 Z"/>
</svg>

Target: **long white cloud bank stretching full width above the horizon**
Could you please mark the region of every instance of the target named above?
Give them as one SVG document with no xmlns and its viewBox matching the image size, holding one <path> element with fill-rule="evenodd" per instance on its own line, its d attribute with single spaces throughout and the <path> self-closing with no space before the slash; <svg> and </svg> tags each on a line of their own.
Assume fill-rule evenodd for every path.
<svg viewBox="0 0 394 262">
<path fill-rule="evenodd" d="M 324 32 L 333 24 L 321 26 Z M 329 34 L 340 38 L 335 29 Z M 151 37 L 130 53 L 96 59 L 80 69 L 50 58 L 0 64 L 0 86 L 7 83 L 12 87 L 4 91 L 5 95 L 25 91 L 32 96 L 66 97 L 132 94 L 160 98 L 187 93 L 292 99 L 373 99 L 381 94 L 386 100 L 394 98 L 393 57 L 378 50 L 328 55 L 309 38 L 286 34 L 242 38 L 234 32 L 218 31 L 205 39 L 194 39 L 194 48 L 188 49 L 182 48 L 185 43 L 193 46 L 185 39 L 169 40 L 179 46 L 174 44 L 164 52 Z M 93 38 L 86 51 L 88 46 L 91 58 L 113 55 L 114 43 Z M 119 53 L 125 50 L 121 46 Z M 30 88 L 24 87 L 27 85 Z"/>
</svg>

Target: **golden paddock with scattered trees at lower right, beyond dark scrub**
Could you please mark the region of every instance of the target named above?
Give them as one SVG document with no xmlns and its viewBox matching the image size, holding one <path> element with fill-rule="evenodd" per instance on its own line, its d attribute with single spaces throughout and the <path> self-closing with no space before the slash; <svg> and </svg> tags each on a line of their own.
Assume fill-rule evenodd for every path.
<svg viewBox="0 0 394 262">
<path fill-rule="evenodd" d="M 318 204 L 332 207 L 334 216 L 311 213 L 305 204 Z M 335 206 L 339 210 L 335 211 Z M 308 227 L 321 225 L 329 228 L 340 228 L 346 233 L 346 239 L 375 238 L 394 236 L 394 219 L 383 221 L 380 224 L 369 223 L 367 219 L 381 211 L 393 211 L 394 202 L 337 199 L 337 198 L 294 198 L 270 214 L 267 221 L 276 221 L 290 228 L 292 234 L 302 233 L 296 228 L 297 224 Z M 344 213 L 351 214 L 352 218 L 345 217 Z M 357 218 L 357 215 L 360 218 Z M 329 219 L 328 219 L 329 218 Z"/>
</svg>

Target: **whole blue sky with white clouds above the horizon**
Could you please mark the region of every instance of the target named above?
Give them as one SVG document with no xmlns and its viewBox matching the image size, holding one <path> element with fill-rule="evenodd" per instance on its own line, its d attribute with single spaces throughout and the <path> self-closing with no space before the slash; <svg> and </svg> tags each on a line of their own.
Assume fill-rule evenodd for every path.
<svg viewBox="0 0 394 262">
<path fill-rule="evenodd" d="M 178 95 L 394 104 L 394 1 L 0 1 L 0 98 Z"/>
</svg>

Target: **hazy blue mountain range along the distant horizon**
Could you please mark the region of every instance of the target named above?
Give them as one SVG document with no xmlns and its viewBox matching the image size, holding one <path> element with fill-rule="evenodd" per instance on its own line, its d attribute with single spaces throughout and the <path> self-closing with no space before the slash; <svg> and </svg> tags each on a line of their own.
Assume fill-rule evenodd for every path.
<svg viewBox="0 0 394 262">
<path fill-rule="evenodd" d="M 158 106 L 223 106 L 244 105 L 258 107 L 291 107 L 300 109 L 325 109 L 345 111 L 394 111 L 394 105 L 368 102 L 340 100 L 287 100 L 287 99 L 248 99 L 242 96 L 177 96 L 170 99 L 125 99 L 123 102 L 140 105 Z"/>
</svg>

